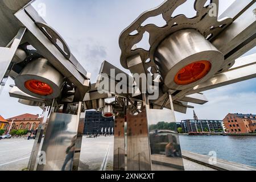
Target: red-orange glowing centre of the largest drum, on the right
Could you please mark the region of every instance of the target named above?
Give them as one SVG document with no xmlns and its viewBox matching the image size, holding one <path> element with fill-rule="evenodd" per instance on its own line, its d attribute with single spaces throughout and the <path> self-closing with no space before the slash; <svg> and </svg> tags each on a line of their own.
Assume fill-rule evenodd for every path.
<svg viewBox="0 0 256 182">
<path fill-rule="evenodd" d="M 212 68 L 212 64 L 209 61 L 196 61 L 180 69 L 174 81 L 177 85 L 192 84 L 207 75 L 210 68 Z"/>
</svg>

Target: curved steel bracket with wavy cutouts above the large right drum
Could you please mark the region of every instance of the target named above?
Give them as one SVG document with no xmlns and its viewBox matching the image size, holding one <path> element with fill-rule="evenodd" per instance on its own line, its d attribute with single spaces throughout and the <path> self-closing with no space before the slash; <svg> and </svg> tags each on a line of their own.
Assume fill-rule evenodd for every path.
<svg viewBox="0 0 256 182">
<path fill-rule="evenodd" d="M 172 14 L 177 7 L 186 1 L 187 0 L 166 0 L 162 5 L 155 9 L 148 10 L 141 14 L 122 32 L 119 38 L 119 47 L 122 51 L 121 64 L 124 68 L 128 69 L 127 59 L 134 55 L 141 56 L 145 70 L 150 67 L 157 68 L 154 63 L 155 49 L 168 35 L 171 35 L 176 31 L 183 30 L 185 28 L 193 28 L 211 41 L 233 22 L 232 18 L 224 18 L 218 21 L 218 0 L 212 0 L 212 3 L 208 6 L 205 6 L 207 0 L 195 0 L 194 9 L 197 11 L 195 17 L 187 18 L 185 15 L 177 15 L 173 17 Z M 213 10 L 213 7 L 214 10 L 217 11 L 215 12 L 215 16 L 210 12 Z M 142 23 L 148 18 L 161 14 L 166 22 L 165 26 L 158 27 L 155 24 L 146 24 L 145 26 L 142 26 Z M 138 31 L 138 33 L 132 35 L 134 31 Z M 141 42 L 145 32 L 150 34 L 150 50 L 148 51 L 143 48 L 135 48 L 135 44 Z M 150 59 L 150 61 L 147 61 L 148 59 Z"/>
</svg>

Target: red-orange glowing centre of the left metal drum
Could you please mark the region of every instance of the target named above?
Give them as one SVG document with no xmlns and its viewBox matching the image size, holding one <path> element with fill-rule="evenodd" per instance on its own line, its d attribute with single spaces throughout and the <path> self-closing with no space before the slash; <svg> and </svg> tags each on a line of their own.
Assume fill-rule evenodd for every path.
<svg viewBox="0 0 256 182">
<path fill-rule="evenodd" d="M 51 86 L 39 80 L 28 80 L 25 82 L 25 87 L 30 92 L 39 94 L 40 96 L 49 96 L 53 92 Z"/>
</svg>

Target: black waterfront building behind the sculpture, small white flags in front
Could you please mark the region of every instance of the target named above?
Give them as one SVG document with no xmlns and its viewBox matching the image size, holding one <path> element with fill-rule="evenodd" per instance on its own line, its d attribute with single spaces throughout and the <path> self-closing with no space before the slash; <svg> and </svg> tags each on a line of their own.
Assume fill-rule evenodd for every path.
<svg viewBox="0 0 256 182">
<path fill-rule="evenodd" d="M 114 118 L 104 118 L 101 112 L 86 111 L 84 134 L 105 134 L 114 132 Z"/>
</svg>

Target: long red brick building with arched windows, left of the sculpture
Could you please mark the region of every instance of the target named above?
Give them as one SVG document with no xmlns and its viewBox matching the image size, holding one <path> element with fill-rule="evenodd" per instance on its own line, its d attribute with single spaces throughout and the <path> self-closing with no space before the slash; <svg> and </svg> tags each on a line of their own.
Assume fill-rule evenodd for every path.
<svg viewBox="0 0 256 182">
<path fill-rule="evenodd" d="M 15 117 L 6 119 L 9 122 L 8 129 L 11 126 L 11 130 L 28 130 L 35 131 L 38 129 L 40 118 L 39 115 L 34 114 L 22 114 Z M 13 125 L 11 123 L 13 122 Z"/>
</svg>

